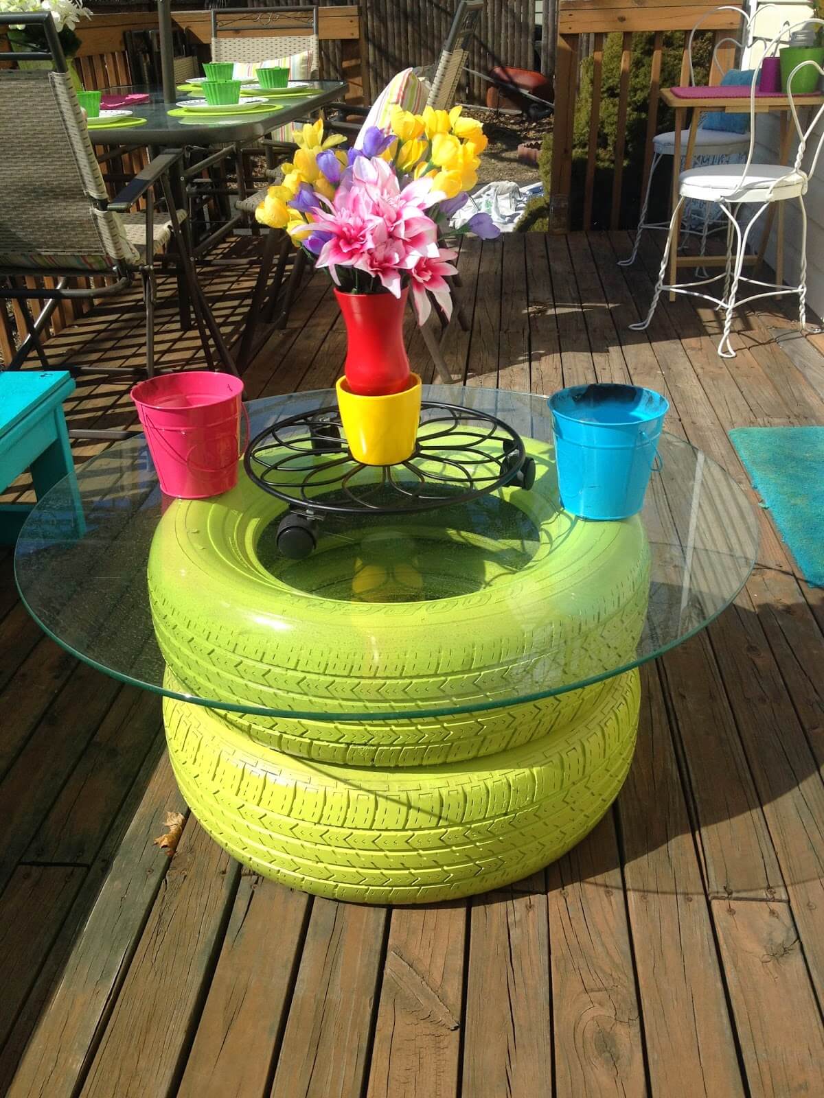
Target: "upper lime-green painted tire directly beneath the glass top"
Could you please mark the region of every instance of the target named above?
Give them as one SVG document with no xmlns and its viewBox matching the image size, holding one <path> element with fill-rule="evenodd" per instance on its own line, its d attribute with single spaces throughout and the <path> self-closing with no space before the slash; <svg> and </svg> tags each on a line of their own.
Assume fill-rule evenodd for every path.
<svg viewBox="0 0 824 1098">
<path fill-rule="evenodd" d="M 260 547 L 283 505 L 244 473 L 218 500 L 172 503 L 148 567 L 168 668 L 188 693 L 285 713 L 227 715 L 260 746 L 350 765 L 436 765 L 495 754 L 586 715 L 600 704 L 601 684 L 517 707 L 506 702 L 528 694 L 527 686 L 538 693 L 559 672 L 575 682 L 632 658 L 646 615 L 648 545 L 637 518 L 592 524 L 559 512 L 552 448 L 526 445 L 537 466 L 533 490 L 501 493 L 516 522 L 510 515 L 495 529 L 491 513 L 481 535 L 444 529 L 444 512 L 431 513 L 430 527 L 419 519 L 416 534 L 439 539 L 443 551 L 427 569 L 436 562 L 444 590 L 468 582 L 467 561 L 475 569 L 474 590 L 431 601 L 342 595 L 334 585 L 335 554 L 343 552 L 335 536 L 299 570 L 264 561 Z M 528 551 L 519 524 L 534 531 Z M 357 582 L 375 571 L 355 569 Z M 397 571 L 415 582 L 405 561 Z M 343 574 L 352 586 L 353 570 Z M 307 589 L 307 576 L 315 590 Z M 391 717 L 452 705 L 468 712 Z M 318 712 L 330 719 L 314 719 Z"/>
</svg>

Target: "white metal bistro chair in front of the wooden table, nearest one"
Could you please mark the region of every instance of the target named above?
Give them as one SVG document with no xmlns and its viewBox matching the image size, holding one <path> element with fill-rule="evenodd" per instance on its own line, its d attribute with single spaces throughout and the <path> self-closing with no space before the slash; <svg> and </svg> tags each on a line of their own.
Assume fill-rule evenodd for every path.
<svg viewBox="0 0 824 1098">
<path fill-rule="evenodd" d="M 794 26 L 790 27 L 789 31 L 791 33 L 795 30 L 795 27 L 803 26 L 804 24 L 809 25 L 810 23 L 824 27 L 824 20 L 810 19 L 797 23 Z M 786 166 L 781 164 L 759 164 L 754 160 L 757 144 L 756 120 L 758 112 L 756 111 L 756 88 L 758 85 L 758 75 L 760 72 L 764 58 L 775 55 L 775 52 L 780 42 L 783 40 L 786 33 L 786 30 L 782 29 L 782 31 L 767 46 L 764 52 L 764 56 L 759 61 L 756 79 L 753 81 L 753 87 L 749 93 L 749 148 L 746 161 L 743 165 L 713 165 L 711 167 L 691 168 L 689 171 L 681 172 L 679 181 L 679 201 L 676 209 L 672 211 L 667 243 L 664 248 L 661 268 L 655 287 L 655 292 L 653 294 L 653 300 L 649 305 L 649 312 L 644 321 L 638 324 L 630 325 L 632 328 L 643 330 L 649 325 L 661 293 L 667 291 L 670 293 L 682 293 L 689 296 L 703 298 L 724 312 L 724 330 L 719 344 L 719 355 L 721 355 L 722 358 L 735 358 L 735 351 L 733 350 L 730 341 L 730 334 L 732 330 L 733 313 L 736 305 L 744 305 L 747 302 L 757 301 L 760 298 L 798 294 L 799 324 L 802 332 L 805 329 L 806 210 L 804 208 L 804 195 L 808 191 L 810 177 L 814 173 L 819 164 L 819 156 L 821 154 L 822 145 L 824 144 L 824 133 L 820 134 L 817 139 L 812 143 L 811 156 L 808 156 L 808 145 L 810 144 L 810 137 L 815 126 L 822 117 L 822 114 L 824 114 L 824 105 L 820 107 L 815 111 L 810 124 L 806 127 L 803 127 L 801 121 L 799 120 L 798 108 L 804 105 L 804 98 L 793 94 L 792 79 L 797 72 L 810 65 L 813 65 L 817 71 L 824 76 L 824 68 L 815 61 L 805 60 L 800 65 L 797 65 L 787 81 L 789 88 L 788 98 L 790 112 L 799 136 L 799 147 L 793 164 L 791 166 Z M 721 208 L 727 222 L 726 266 L 722 273 L 715 274 L 712 278 L 700 279 L 695 282 L 675 283 L 668 285 L 664 280 L 667 273 L 669 254 L 672 247 L 677 247 L 678 242 L 676 237 L 678 236 L 681 213 L 683 211 L 684 203 L 689 199 L 700 199 L 704 202 L 715 202 Z M 801 211 L 801 259 L 799 284 L 788 287 L 778 282 L 762 282 L 758 279 L 747 278 L 744 274 L 744 264 L 747 258 L 747 244 L 749 243 L 753 229 L 758 224 L 758 221 L 764 212 L 768 210 L 772 203 L 788 202 L 791 200 L 798 201 Z M 754 204 L 756 210 L 747 221 L 746 225 L 742 228 L 742 225 L 738 222 L 738 213 L 744 204 Z M 697 287 L 709 287 L 722 279 L 724 280 L 724 288 L 720 298 L 705 292 L 703 289 L 697 289 Z M 757 288 L 758 292 L 739 299 L 738 289 L 742 282 Z"/>
</svg>

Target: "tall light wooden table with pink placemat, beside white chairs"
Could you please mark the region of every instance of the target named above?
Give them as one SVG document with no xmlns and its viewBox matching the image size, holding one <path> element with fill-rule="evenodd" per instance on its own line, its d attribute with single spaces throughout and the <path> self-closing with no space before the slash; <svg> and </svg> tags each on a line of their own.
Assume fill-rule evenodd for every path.
<svg viewBox="0 0 824 1098">
<path fill-rule="evenodd" d="M 675 210 L 678 205 L 678 183 L 681 176 L 681 170 L 687 171 L 692 165 L 692 157 L 695 149 L 695 134 L 698 133 L 698 124 L 701 115 L 705 111 L 724 111 L 730 114 L 749 114 L 751 105 L 750 89 L 745 88 L 745 94 L 742 96 L 730 96 L 723 94 L 719 88 L 705 88 L 705 94 L 695 94 L 699 89 L 691 89 L 689 97 L 679 96 L 676 88 L 661 88 L 660 98 L 675 111 L 675 155 L 672 158 L 672 197 L 670 210 Z M 824 103 L 824 96 L 822 94 L 810 94 L 810 96 L 797 96 L 795 105 L 798 107 L 821 107 Z M 779 138 L 779 164 L 787 164 L 790 156 L 790 147 L 792 144 L 792 125 L 790 117 L 790 99 L 784 94 L 777 96 L 761 96 L 756 92 L 755 98 L 755 110 L 757 114 L 767 114 L 768 112 L 775 112 L 779 115 L 780 124 L 780 138 Z M 687 138 L 687 150 L 684 154 L 683 168 L 678 170 L 677 165 L 681 163 L 681 133 L 686 128 L 684 121 L 687 117 L 687 111 L 692 111 L 692 121 L 690 122 L 690 132 Z M 742 165 L 742 169 L 743 169 Z M 745 264 L 747 266 L 758 265 L 764 259 L 764 254 L 767 248 L 767 240 L 769 239 L 770 229 L 772 228 L 772 220 L 775 217 L 776 206 L 779 208 L 778 211 L 778 251 L 776 257 L 776 281 L 781 282 L 783 279 L 783 203 L 771 202 L 770 209 L 767 211 L 767 223 L 765 226 L 764 236 L 761 238 L 761 245 L 758 249 L 758 255 L 747 256 Z M 669 256 L 669 282 L 672 285 L 676 281 L 677 272 L 679 267 L 694 267 L 695 257 L 694 256 L 679 256 L 678 255 L 678 238 L 680 235 L 681 223 L 679 220 L 678 225 L 675 227 L 675 242 L 673 247 L 670 249 Z M 702 256 L 701 266 L 702 267 L 721 267 L 726 262 L 726 256 Z M 670 293 L 670 300 L 675 300 L 675 294 Z"/>
</svg>

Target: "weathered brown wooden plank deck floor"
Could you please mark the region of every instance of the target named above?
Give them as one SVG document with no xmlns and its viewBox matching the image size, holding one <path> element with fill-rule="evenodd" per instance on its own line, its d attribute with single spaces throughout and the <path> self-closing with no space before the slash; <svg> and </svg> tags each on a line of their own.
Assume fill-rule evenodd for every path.
<svg viewBox="0 0 824 1098">
<path fill-rule="evenodd" d="M 733 426 L 824 424 L 824 357 L 780 312 L 646 309 L 658 257 L 625 234 L 469 243 L 455 378 L 547 393 L 632 378 L 670 430 L 747 478 Z M 249 276 L 210 294 L 231 329 Z M 170 314 L 171 315 L 171 314 Z M 67 361 L 140 352 L 111 303 L 56 337 Z M 786 337 L 778 343 L 772 335 Z M 327 283 L 265 329 L 249 396 L 331 384 Z M 170 320 L 175 360 L 197 361 Z M 431 376 L 419 335 L 413 365 Z M 169 359 L 170 361 L 171 359 Z M 131 416 L 85 382 L 75 424 Z M 78 445 L 78 458 L 92 449 Z M 706 631 L 644 669 L 637 755 L 614 809 L 525 882 L 428 908 L 291 893 L 186 820 L 156 697 L 43 637 L 0 559 L 0 1088 L 13 1098 L 756 1098 L 824 1093 L 824 591 L 759 511 L 759 565 Z M 16 1076 L 13 1082 L 16 1069 Z"/>
</svg>

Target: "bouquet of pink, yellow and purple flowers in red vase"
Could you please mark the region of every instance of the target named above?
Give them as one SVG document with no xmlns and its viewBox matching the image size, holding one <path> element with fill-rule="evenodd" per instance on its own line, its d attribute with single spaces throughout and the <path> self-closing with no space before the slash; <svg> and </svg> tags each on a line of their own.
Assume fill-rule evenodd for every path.
<svg viewBox="0 0 824 1098">
<path fill-rule="evenodd" d="M 322 120 L 294 136 L 293 160 L 257 220 L 286 228 L 341 291 L 400 298 L 409 285 L 420 324 L 431 312 L 428 294 L 449 316 L 445 277 L 457 273 L 457 253 L 443 246 L 443 236 L 477 182 L 487 146 L 480 122 L 461 117 L 460 107 L 426 107 L 420 115 L 396 107 L 389 133 L 372 127 L 346 152 L 335 148 L 344 137 L 324 139 Z M 499 229 L 478 213 L 457 233 L 490 239 Z"/>
</svg>

